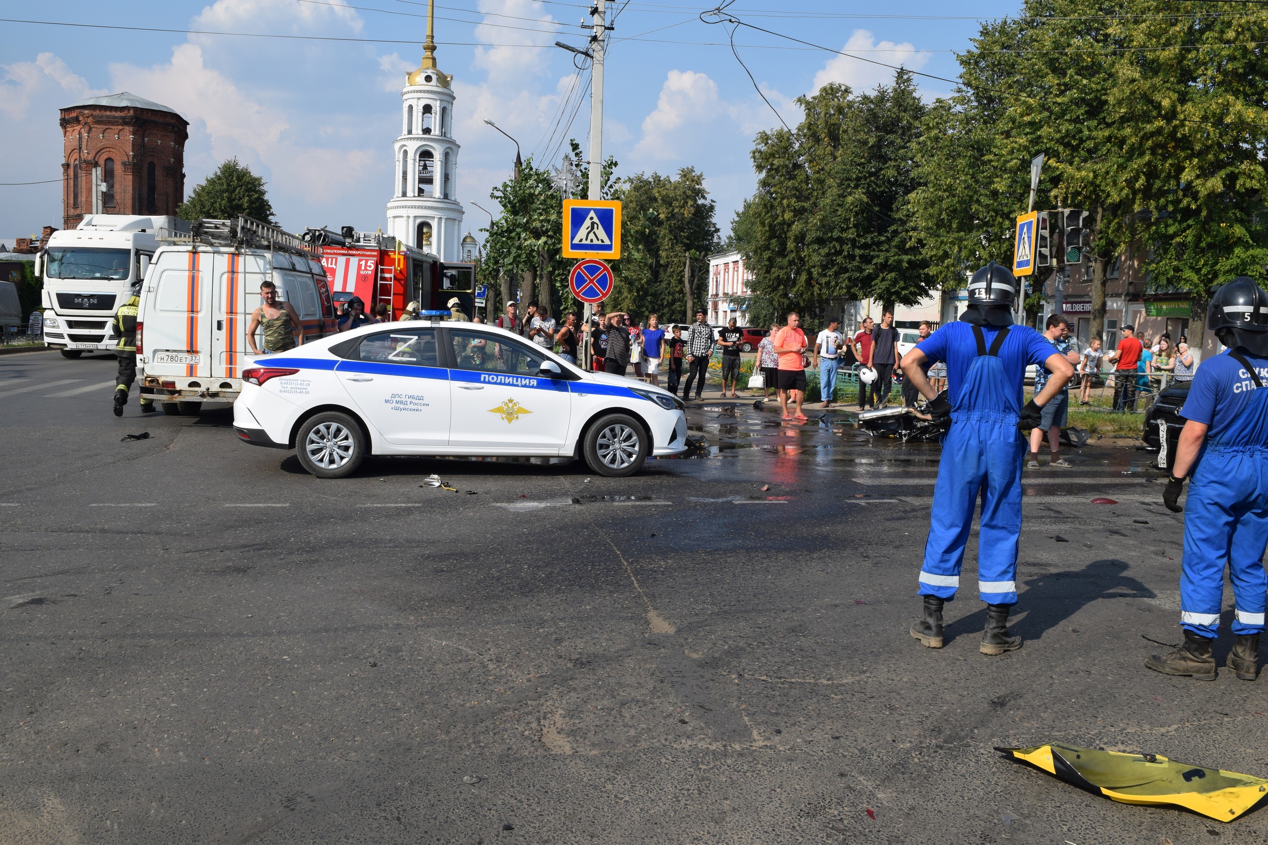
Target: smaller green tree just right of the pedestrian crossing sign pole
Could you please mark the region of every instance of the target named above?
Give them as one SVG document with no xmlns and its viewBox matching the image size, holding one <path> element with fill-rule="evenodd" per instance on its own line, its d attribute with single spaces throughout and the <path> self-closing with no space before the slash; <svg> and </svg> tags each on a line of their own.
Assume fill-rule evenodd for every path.
<svg viewBox="0 0 1268 845">
<path fill-rule="evenodd" d="M 708 262 L 718 243 L 715 204 L 704 174 L 683 167 L 676 179 L 638 174 L 619 181 L 621 200 L 621 258 L 609 309 L 638 317 L 657 313 L 662 322 L 704 302 Z"/>
</svg>

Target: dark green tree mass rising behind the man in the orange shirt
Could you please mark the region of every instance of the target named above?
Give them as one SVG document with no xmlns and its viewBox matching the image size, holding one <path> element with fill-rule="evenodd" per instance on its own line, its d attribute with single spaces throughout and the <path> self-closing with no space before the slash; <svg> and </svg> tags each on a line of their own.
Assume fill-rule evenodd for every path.
<svg viewBox="0 0 1268 845">
<path fill-rule="evenodd" d="M 796 129 L 758 133 L 757 193 L 733 226 L 756 276 L 749 318 L 817 315 L 841 298 L 919 302 L 928 283 L 910 196 L 926 108 L 910 73 L 864 95 L 825 85 L 798 104 Z"/>
</svg>

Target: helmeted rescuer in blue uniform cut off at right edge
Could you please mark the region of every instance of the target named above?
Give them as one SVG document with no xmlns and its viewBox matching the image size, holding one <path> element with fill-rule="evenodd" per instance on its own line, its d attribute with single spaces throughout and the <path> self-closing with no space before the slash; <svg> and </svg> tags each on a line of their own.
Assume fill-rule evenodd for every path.
<svg viewBox="0 0 1268 845">
<path fill-rule="evenodd" d="M 1243 680 L 1259 674 L 1264 630 L 1263 556 L 1268 547 L 1268 294 L 1240 276 L 1215 291 L 1206 324 L 1227 347 L 1202 361 L 1181 413 L 1187 421 L 1163 503 L 1184 511 L 1181 626 L 1184 642 L 1145 665 L 1168 675 L 1215 680 L 1211 646 L 1220 627 L 1229 568 L 1238 640 L 1225 666 Z M 1193 485 L 1182 508 L 1184 476 Z"/>
</svg>

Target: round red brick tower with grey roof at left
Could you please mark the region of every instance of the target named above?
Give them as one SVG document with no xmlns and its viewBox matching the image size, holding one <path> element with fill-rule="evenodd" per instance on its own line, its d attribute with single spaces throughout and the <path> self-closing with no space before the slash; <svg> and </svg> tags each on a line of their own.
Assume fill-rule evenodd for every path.
<svg viewBox="0 0 1268 845">
<path fill-rule="evenodd" d="M 61 113 L 63 228 L 93 213 L 176 213 L 185 200 L 185 118 L 127 91 Z"/>
</svg>

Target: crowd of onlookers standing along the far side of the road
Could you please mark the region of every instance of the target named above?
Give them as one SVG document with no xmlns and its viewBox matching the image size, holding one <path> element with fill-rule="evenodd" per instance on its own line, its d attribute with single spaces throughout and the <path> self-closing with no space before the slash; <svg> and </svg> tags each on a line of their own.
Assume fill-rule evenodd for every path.
<svg viewBox="0 0 1268 845">
<path fill-rule="evenodd" d="M 467 319 L 458 299 L 449 302 L 455 319 Z M 418 319 L 417 303 L 410 303 L 402 319 Z M 345 304 L 339 319 L 340 331 L 347 331 L 368 323 L 391 321 L 385 304 L 379 304 L 373 315 L 365 313 L 360 298 L 354 296 Z M 472 322 L 483 323 L 481 317 Z M 653 385 L 661 385 L 682 398 L 690 399 L 695 388 L 696 399 L 704 393 L 709 362 L 714 351 L 721 352 L 723 395 L 738 397 L 741 372 L 741 347 L 743 332 L 730 319 L 728 326 L 715 329 L 705 322 L 705 312 L 697 310 L 695 322 L 690 324 L 662 324 L 657 314 L 648 314 L 644 321 L 635 321 L 625 312 L 604 312 L 596 307 L 590 326 L 582 326 L 582 318 L 576 312 L 568 312 L 562 321 L 550 315 L 548 305 L 530 302 L 525 313 L 519 314 L 519 303 L 510 303 L 506 313 L 495 321 L 500 328 L 524 336 L 533 343 L 549 348 L 571 364 L 581 361 L 581 350 L 588 336 L 593 351 L 591 367 L 598 372 L 633 375 L 633 378 Z M 933 327 L 922 321 L 918 327 L 918 341 L 931 334 Z M 1047 319 L 1045 333 L 1054 347 L 1069 357 L 1075 365 L 1075 379 L 1070 386 L 1079 390 L 1079 404 L 1092 404 L 1092 390 L 1097 383 L 1113 385 L 1115 410 L 1135 410 L 1140 389 L 1148 389 L 1153 383 L 1160 384 L 1165 376 L 1169 381 L 1192 381 L 1197 361 L 1189 350 L 1188 338 L 1178 340 L 1169 332 L 1156 338 L 1136 337 L 1130 324 L 1121 329 L 1121 338 L 1112 352 L 1102 348 L 1101 338 L 1094 337 L 1087 348 L 1079 352 L 1070 334 L 1066 318 L 1054 314 Z M 827 328 L 820 331 L 814 343 L 808 342 L 800 324 L 800 317 L 790 313 L 784 324 L 772 323 L 757 345 L 757 361 L 753 376 L 744 388 L 762 390 L 768 399 L 772 391 L 780 400 L 780 408 L 786 419 L 805 419 L 801 405 L 805 402 L 806 370 L 817 370 L 819 375 L 820 398 L 824 408 L 831 408 L 837 398 L 837 378 L 844 365 L 860 365 L 860 370 L 870 369 L 871 380 L 858 379 L 858 409 L 884 408 L 893 390 L 895 376 L 900 378 L 898 365 L 902 361 L 899 332 L 894 327 L 894 314 L 885 310 L 877 324 L 866 317 L 858 332 L 847 337 L 841 332 L 841 323 L 829 319 Z M 935 390 L 946 386 L 946 367 L 943 364 L 924 365 L 926 375 Z M 633 370 L 633 372 L 631 372 Z M 1042 389 L 1044 372 L 1037 374 L 1035 390 Z M 1102 380 L 1108 376 L 1108 380 Z M 829 389 L 828 385 L 832 385 Z M 921 397 L 914 388 L 903 380 L 903 404 L 914 407 Z"/>
</svg>

